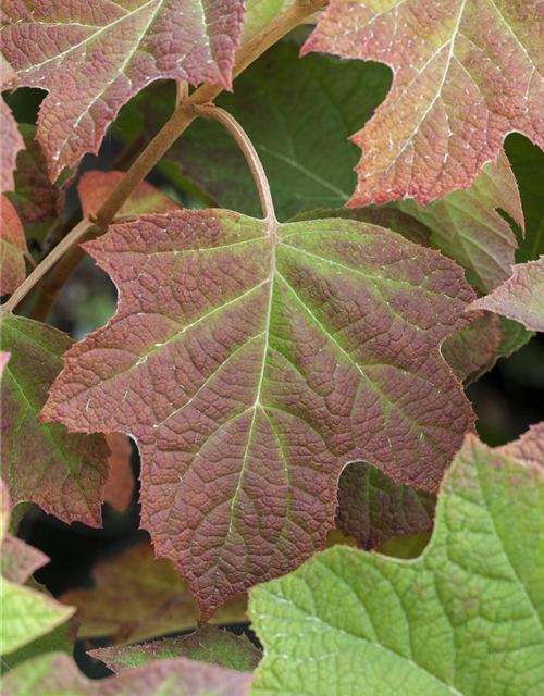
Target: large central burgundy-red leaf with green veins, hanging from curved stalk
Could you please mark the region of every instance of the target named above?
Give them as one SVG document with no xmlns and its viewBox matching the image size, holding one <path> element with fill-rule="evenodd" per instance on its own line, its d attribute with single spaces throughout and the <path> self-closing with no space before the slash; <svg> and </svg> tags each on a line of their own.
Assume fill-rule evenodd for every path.
<svg viewBox="0 0 544 696">
<path fill-rule="evenodd" d="M 205 618 L 324 548 L 347 462 L 433 492 L 473 426 L 440 351 L 472 290 L 395 233 L 183 210 L 86 249 L 118 313 L 42 419 L 137 440 L 141 524 Z"/>
</svg>

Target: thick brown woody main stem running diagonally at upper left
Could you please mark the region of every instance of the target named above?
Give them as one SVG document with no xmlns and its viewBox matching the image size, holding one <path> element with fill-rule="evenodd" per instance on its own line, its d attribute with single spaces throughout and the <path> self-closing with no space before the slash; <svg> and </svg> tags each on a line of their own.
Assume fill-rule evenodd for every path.
<svg viewBox="0 0 544 696">
<path fill-rule="evenodd" d="M 259 58 L 259 55 L 307 17 L 323 10 L 327 2 L 329 0 L 297 0 L 285 10 L 285 12 L 274 17 L 272 22 L 258 32 L 236 52 L 233 78 L 237 77 L 248 65 Z M 149 174 L 166 150 L 194 121 L 196 116 L 195 105 L 210 103 L 222 91 L 223 87 L 205 83 L 196 89 L 188 99 L 182 101 L 170 120 L 154 136 L 151 142 L 149 142 L 118 186 L 115 186 L 108 199 L 100 206 L 96 214 L 97 227 L 95 228 L 94 236 L 99 236 L 106 231 L 106 227 L 112 222 L 118 211 L 128 196 L 136 189 L 137 185 Z M 84 256 L 82 249 L 75 247 L 65 254 L 62 263 L 59 263 L 51 272 L 44 285 L 38 302 L 30 314 L 33 319 L 45 321 L 62 286 L 75 271 Z M 12 307 L 14 306 L 12 304 Z"/>
</svg>

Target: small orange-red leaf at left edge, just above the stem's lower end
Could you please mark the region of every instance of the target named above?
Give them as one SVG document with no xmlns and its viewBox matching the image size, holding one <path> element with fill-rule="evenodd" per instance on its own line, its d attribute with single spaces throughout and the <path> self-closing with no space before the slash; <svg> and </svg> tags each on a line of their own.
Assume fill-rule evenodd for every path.
<svg viewBox="0 0 544 696">
<path fill-rule="evenodd" d="M 25 279 L 25 251 L 21 220 L 8 198 L 0 196 L 0 295 L 13 293 Z"/>
</svg>

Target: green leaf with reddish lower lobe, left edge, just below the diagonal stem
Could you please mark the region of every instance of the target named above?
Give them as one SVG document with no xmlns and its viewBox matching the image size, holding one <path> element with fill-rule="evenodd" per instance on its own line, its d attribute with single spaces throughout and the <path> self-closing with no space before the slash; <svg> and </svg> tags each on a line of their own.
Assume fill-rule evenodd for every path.
<svg viewBox="0 0 544 696">
<path fill-rule="evenodd" d="M 30 500 L 64 522 L 100 526 L 109 456 L 103 437 L 38 422 L 70 345 L 65 334 L 45 324 L 1 320 L 0 348 L 12 353 L 0 383 L 1 474 L 13 505 Z"/>
</svg>

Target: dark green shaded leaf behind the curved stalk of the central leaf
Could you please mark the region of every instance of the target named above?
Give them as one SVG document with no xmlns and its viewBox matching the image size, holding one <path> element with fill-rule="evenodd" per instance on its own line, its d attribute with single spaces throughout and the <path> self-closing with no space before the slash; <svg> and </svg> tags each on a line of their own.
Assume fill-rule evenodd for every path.
<svg viewBox="0 0 544 696">
<path fill-rule="evenodd" d="M 339 207 L 356 184 L 357 148 L 347 138 L 384 99 L 391 73 L 384 65 L 339 64 L 324 55 L 300 60 L 299 44 L 267 51 L 215 103 L 240 122 L 267 170 L 277 216 L 287 220 L 318 206 Z M 173 90 L 141 109 L 156 133 L 173 108 Z M 323 144 L 326 142 L 326 147 Z M 233 138 L 199 119 L 166 154 L 223 208 L 259 215 L 251 174 Z"/>
</svg>

